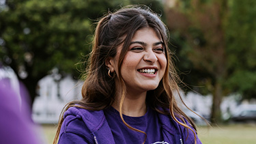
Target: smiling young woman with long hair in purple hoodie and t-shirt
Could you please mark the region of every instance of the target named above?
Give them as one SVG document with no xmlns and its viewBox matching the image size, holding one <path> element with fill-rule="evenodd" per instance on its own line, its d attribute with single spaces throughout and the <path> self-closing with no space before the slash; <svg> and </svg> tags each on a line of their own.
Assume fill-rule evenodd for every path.
<svg viewBox="0 0 256 144">
<path fill-rule="evenodd" d="M 70 102 L 54 143 L 201 143 L 177 106 L 180 89 L 167 28 L 145 6 L 101 18 L 80 101 Z"/>
</svg>

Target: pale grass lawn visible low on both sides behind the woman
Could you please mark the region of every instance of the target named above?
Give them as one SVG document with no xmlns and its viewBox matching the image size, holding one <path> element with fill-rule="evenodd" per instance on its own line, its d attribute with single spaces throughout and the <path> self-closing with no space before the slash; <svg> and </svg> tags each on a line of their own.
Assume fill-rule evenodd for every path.
<svg viewBox="0 0 256 144">
<path fill-rule="evenodd" d="M 212 128 L 198 127 L 198 136 L 203 144 L 253 144 L 256 143 L 256 124 L 232 124 Z M 46 141 L 53 143 L 57 126 L 44 125 Z"/>
</svg>

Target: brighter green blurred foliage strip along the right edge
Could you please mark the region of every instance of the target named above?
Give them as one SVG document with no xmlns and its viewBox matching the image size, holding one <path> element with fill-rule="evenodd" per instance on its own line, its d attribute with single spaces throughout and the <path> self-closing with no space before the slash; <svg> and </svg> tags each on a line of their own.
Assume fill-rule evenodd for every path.
<svg viewBox="0 0 256 144">
<path fill-rule="evenodd" d="M 230 77 L 225 85 L 256 98 L 256 1 L 230 1 L 226 42 Z"/>
</svg>

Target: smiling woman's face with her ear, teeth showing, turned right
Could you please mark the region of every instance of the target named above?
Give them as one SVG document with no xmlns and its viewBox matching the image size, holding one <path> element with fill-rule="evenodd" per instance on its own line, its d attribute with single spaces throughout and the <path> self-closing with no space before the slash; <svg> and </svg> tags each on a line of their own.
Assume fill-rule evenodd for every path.
<svg viewBox="0 0 256 144">
<path fill-rule="evenodd" d="M 122 45 L 117 48 L 117 55 L 111 59 L 116 73 L 121 50 Z M 156 89 L 166 67 L 165 47 L 160 35 L 150 27 L 139 29 L 131 40 L 121 66 L 127 91 L 145 92 Z"/>
</svg>

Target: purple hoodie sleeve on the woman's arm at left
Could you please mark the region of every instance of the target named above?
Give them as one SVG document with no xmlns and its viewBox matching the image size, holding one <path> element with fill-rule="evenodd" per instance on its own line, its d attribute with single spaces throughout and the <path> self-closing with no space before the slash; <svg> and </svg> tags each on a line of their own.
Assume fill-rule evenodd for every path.
<svg viewBox="0 0 256 144">
<path fill-rule="evenodd" d="M 85 123 L 74 115 L 69 115 L 64 119 L 59 134 L 59 144 L 70 143 L 94 143 Z"/>
</svg>

